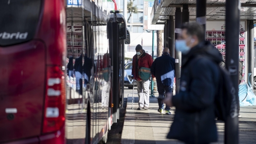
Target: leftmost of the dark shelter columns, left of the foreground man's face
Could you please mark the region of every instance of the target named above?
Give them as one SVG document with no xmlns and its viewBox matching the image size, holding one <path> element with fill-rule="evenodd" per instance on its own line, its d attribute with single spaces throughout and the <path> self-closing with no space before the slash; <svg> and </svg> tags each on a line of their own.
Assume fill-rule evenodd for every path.
<svg viewBox="0 0 256 144">
<path fill-rule="evenodd" d="M 168 41 L 169 41 L 169 50 L 170 50 L 170 55 L 171 57 L 175 57 L 174 56 L 174 43 L 175 43 L 175 38 L 174 38 L 174 16 L 169 16 L 169 37 L 168 37 Z"/>
</svg>

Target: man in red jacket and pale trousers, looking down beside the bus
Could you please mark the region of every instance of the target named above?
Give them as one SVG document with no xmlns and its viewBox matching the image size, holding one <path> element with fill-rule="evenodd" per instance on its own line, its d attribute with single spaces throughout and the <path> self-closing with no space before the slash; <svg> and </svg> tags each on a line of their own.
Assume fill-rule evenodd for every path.
<svg viewBox="0 0 256 144">
<path fill-rule="evenodd" d="M 149 78 L 147 80 L 143 80 L 139 75 L 139 70 L 144 68 L 151 68 L 153 63 L 152 57 L 145 53 L 142 46 L 138 44 L 135 48 L 136 55 L 132 58 L 132 71 L 131 74 L 133 78 L 136 80 L 137 83 L 137 90 L 139 95 L 139 108 L 137 110 L 148 110 L 149 106 Z M 155 81 L 156 78 L 152 75 L 153 80 Z"/>
</svg>

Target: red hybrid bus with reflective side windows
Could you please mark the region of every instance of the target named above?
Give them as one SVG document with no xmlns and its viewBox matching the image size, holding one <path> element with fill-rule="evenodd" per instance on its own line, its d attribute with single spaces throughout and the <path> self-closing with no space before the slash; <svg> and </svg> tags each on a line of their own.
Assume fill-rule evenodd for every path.
<svg viewBox="0 0 256 144">
<path fill-rule="evenodd" d="M 1 144 L 106 143 L 119 118 L 125 20 L 110 1 L 69 1 L 0 0 Z"/>
</svg>

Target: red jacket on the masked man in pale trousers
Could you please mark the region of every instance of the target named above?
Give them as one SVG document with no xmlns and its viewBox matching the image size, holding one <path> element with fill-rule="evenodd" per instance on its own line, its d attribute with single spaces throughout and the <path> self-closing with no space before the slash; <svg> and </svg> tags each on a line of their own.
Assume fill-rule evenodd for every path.
<svg viewBox="0 0 256 144">
<path fill-rule="evenodd" d="M 138 73 L 139 69 L 142 67 L 150 69 L 152 63 L 153 63 L 152 57 L 149 54 L 145 53 L 144 50 L 143 50 L 142 56 L 138 59 L 138 65 L 137 65 L 137 55 L 134 55 L 132 58 L 132 69 L 131 69 L 131 74 L 134 76 L 134 79 L 138 81 L 142 80 L 139 77 L 139 73 Z M 155 77 L 155 76 L 152 75 L 152 77 Z"/>
</svg>

